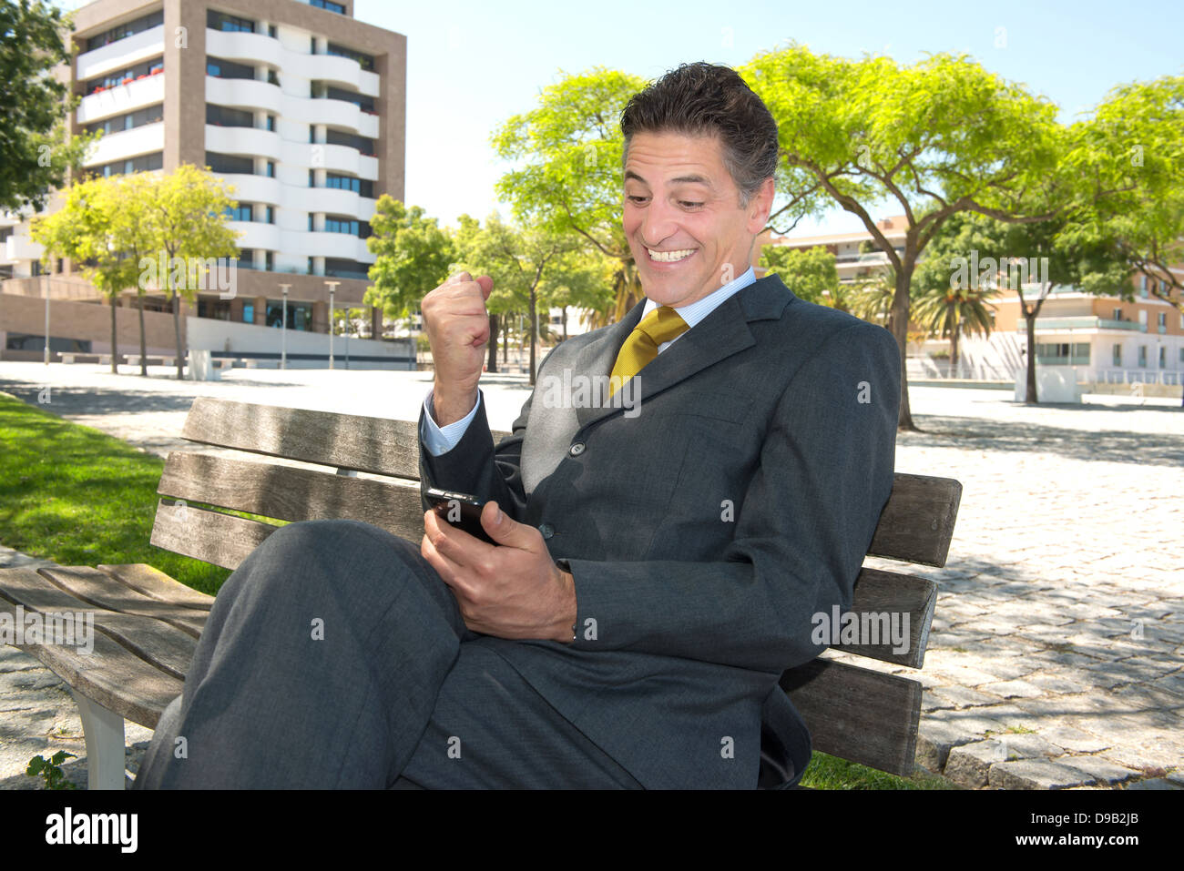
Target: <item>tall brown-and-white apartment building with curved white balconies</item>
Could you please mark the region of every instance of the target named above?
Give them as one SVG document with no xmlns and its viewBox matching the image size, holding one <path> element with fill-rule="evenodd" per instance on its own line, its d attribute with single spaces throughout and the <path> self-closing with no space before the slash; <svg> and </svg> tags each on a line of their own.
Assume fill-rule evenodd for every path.
<svg viewBox="0 0 1184 871">
<path fill-rule="evenodd" d="M 75 13 L 73 40 L 71 124 L 103 133 L 88 173 L 193 163 L 234 188 L 236 293 L 201 293 L 182 314 L 276 327 L 289 285 L 288 328 L 327 333 L 330 283 L 336 308 L 363 307 L 369 219 L 381 194 L 404 199 L 405 36 L 355 20 L 353 0 L 97 0 Z M 98 303 L 69 264 L 41 276 L 26 221 L 0 217 L 0 293 Z M 5 309 L 9 348 L 39 333 L 11 323 L 25 308 Z M 170 310 L 162 295 L 146 308 Z M 381 312 L 367 314 L 360 333 L 381 337 Z M 51 335 L 109 343 L 109 330 Z"/>
</svg>

